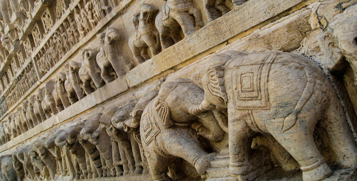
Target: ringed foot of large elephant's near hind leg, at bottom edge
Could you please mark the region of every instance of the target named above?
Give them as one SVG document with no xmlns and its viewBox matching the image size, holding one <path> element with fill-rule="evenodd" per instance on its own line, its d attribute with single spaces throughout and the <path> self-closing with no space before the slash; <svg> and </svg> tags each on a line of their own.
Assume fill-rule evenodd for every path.
<svg viewBox="0 0 357 181">
<path fill-rule="evenodd" d="M 303 181 L 320 181 L 330 176 L 332 170 L 326 162 L 323 162 L 321 165 L 317 166 L 314 169 L 308 169 L 301 167 L 302 170 L 302 180 Z"/>
</svg>

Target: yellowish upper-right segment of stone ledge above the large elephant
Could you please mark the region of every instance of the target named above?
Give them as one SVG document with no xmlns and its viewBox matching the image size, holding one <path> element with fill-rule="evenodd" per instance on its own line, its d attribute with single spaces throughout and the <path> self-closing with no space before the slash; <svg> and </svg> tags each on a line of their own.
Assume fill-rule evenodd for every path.
<svg viewBox="0 0 357 181">
<path fill-rule="evenodd" d="M 128 85 L 139 85 L 301 2 L 303 0 L 250 0 L 129 71 Z"/>
</svg>

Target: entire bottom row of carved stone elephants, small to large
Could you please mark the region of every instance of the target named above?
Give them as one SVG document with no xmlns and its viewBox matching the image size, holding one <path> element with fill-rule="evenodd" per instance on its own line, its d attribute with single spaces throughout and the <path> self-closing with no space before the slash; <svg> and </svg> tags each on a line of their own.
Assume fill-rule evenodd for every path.
<svg viewBox="0 0 357 181">
<path fill-rule="evenodd" d="M 1 168 L 32 179 L 53 179 L 55 165 L 76 178 L 150 171 L 155 181 L 207 179 L 218 169 L 218 177 L 246 181 L 271 169 L 273 155 L 284 170 L 300 167 L 304 181 L 320 181 L 332 170 L 314 141 L 317 124 L 336 156 L 331 162 L 355 168 L 356 140 L 315 62 L 284 52 L 227 51 L 191 79 L 165 81 L 139 100 L 57 131 L 12 159 L 5 156 Z M 257 137 L 264 147 L 252 145 Z M 11 161 L 12 171 L 6 170 Z"/>
</svg>

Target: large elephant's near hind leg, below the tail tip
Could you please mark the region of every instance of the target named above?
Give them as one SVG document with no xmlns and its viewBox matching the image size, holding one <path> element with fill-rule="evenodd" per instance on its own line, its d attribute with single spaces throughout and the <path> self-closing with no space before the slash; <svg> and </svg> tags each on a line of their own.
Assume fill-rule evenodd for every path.
<svg viewBox="0 0 357 181">
<path fill-rule="evenodd" d="M 299 117 L 310 115 L 299 114 Z M 284 117 L 266 122 L 271 135 L 290 153 L 300 165 L 303 181 L 318 181 L 331 174 L 331 169 L 323 160 L 320 151 L 313 140 L 313 125 L 309 120 L 297 120 L 296 124 L 285 132 L 281 132 Z M 300 118 L 301 119 L 301 118 Z M 313 121 L 316 123 L 316 121 Z M 307 123 L 306 125 L 304 125 Z M 311 128 L 308 128 L 311 127 Z M 231 133 L 230 133 L 231 134 Z"/>
</svg>

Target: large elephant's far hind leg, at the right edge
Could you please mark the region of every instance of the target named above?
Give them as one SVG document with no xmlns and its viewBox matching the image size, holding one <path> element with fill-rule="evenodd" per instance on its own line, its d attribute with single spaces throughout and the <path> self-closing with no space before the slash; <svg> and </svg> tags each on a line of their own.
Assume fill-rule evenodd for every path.
<svg viewBox="0 0 357 181">
<path fill-rule="evenodd" d="M 330 97 L 336 97 L 335 92 L 332 92 L 332 94 L 334 95 Z M 347 125 L 345 112 L 337 97 L 330 101 L 321 124 L 327 131 L 330 144 L 341 166 L 355 168 L 357 165 L 356 142 Z"/>
</svg>

